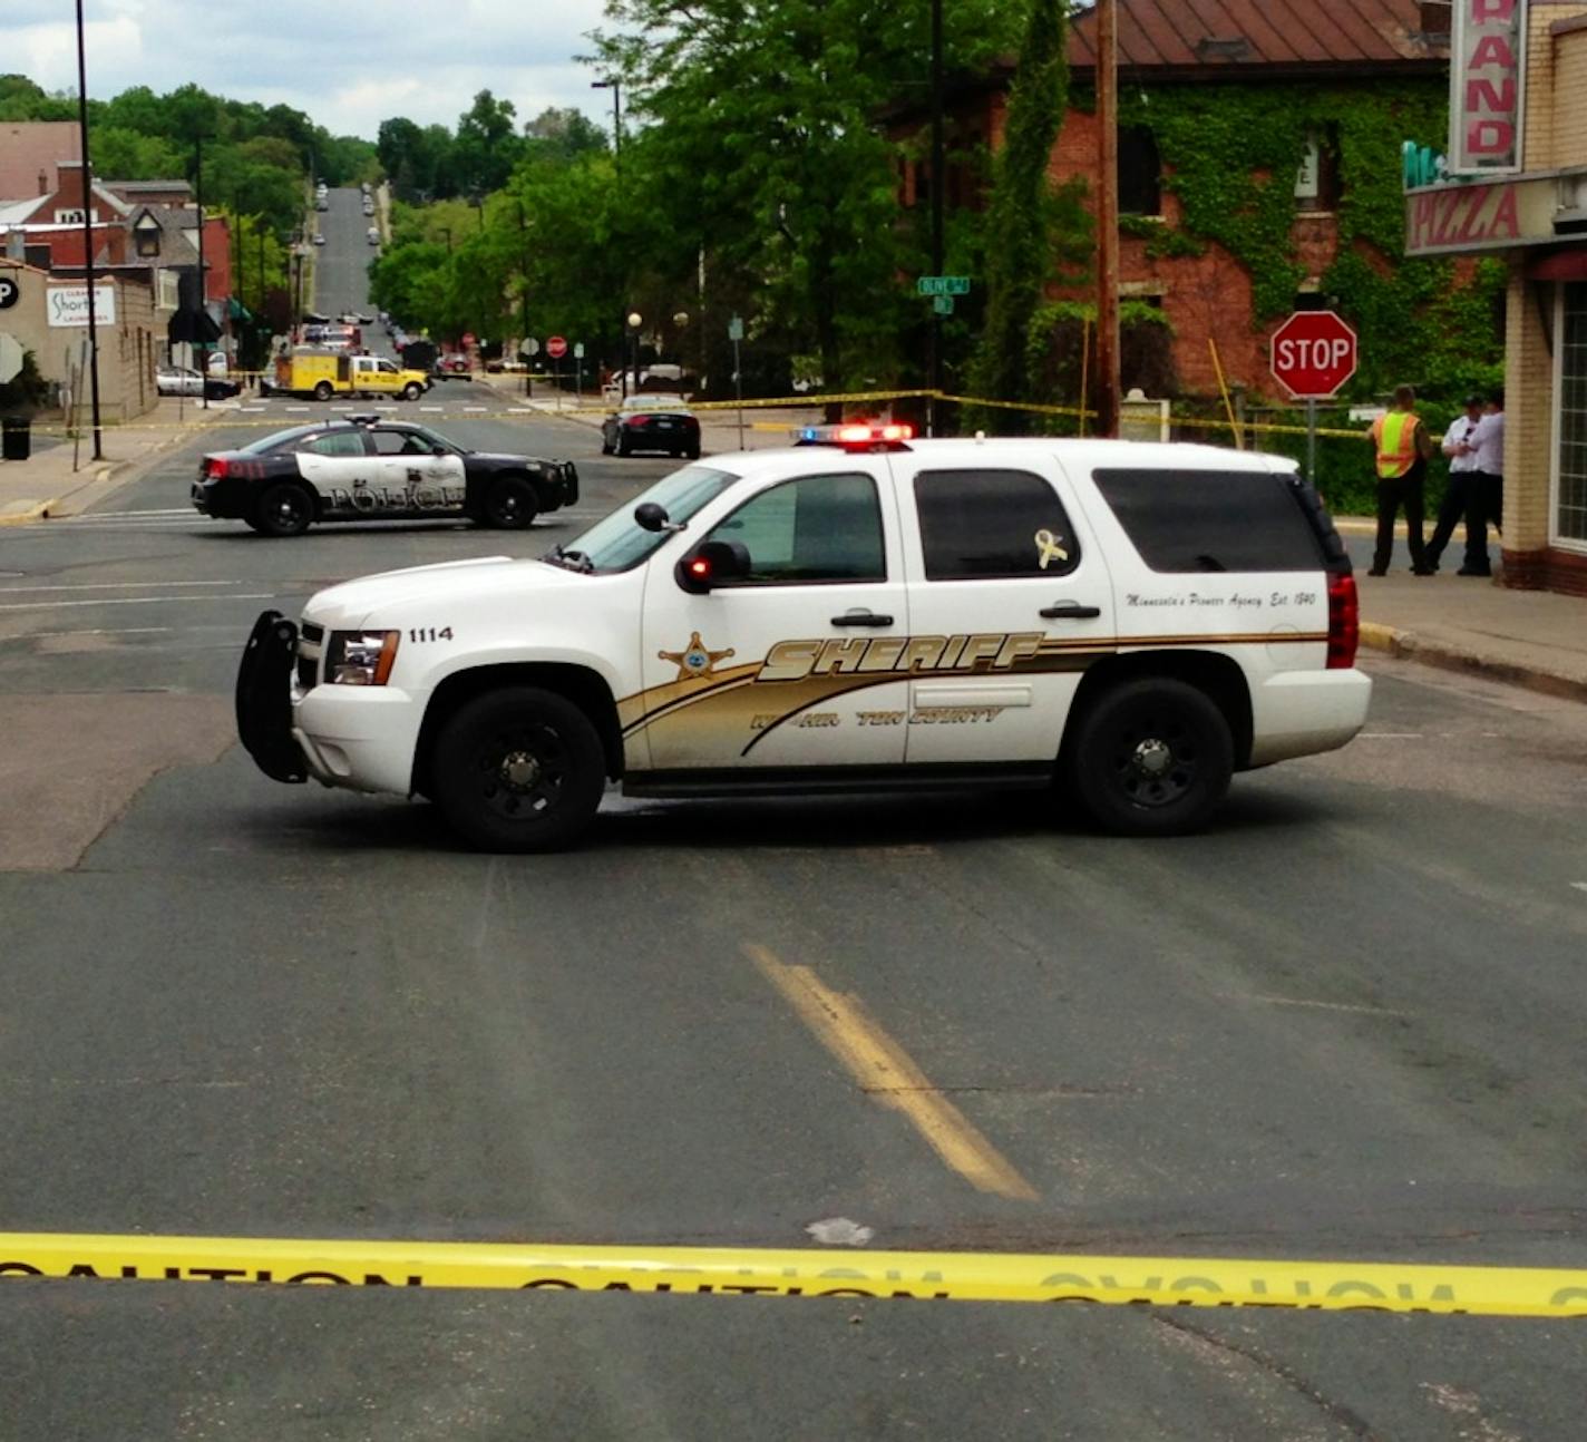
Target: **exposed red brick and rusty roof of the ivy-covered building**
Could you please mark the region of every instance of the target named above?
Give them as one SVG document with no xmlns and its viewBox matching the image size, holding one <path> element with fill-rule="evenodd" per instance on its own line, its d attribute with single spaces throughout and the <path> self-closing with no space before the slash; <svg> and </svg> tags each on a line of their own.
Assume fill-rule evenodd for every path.
<svg viewBox="0 0 1587 1442">
<path fill-rule="evenodd" d="M 1049 174 L 1054 182 L 1081 179 L 1095 194 L 1097 116 L 1084 100 L 1095 86 L 1095 10 L 1071 17 L 1068 60 L 1071 105 L 1054 146 Z M 1449 3 L 1424 0 L 1119 0 L 1119 90 L 1128 102 L 1166 87 L 1282 87 L 1305 98 L 1331 95 L 1339 86 L 1420 87 L 1436 97 L 1446 84 Z M 997 67 L 986 81 L 962 87 L 954 97 L 952 132 L 962 154 L 982 143 L 998 149 L 1003 138 L 1013 63 Z M 917 111 L 916 111 L 917 116 Z M 908 133 L 911 125 L 898 125 Z M 1392 152 L 1398 136 L 1389 144 Z M 1238 152 L 1228 162 L 1239 165 Z M 1268 373 L 1268 336 L 1282 314 L 1258 316 L 1251 271 L 1217 241 L 1165 246 L 1165 233 L 1182 232 L 1181 197 L 1165 181 L 1163 163 L 1149 124 L 1122 124 L 1119 135 L 1120 295 L 1160 308 L 1173 328 L 1174 389 L 1212 393 L 1217 378 L 1208 349 L 1214 336 L 1230 384 L 1273 392 Z M 1295 178 L 1295 216 L 1290 249 L 1301 271 L 1290 308 L 1322 308 L 1322 278 L 1339 254 L 1339 157 L 1331 127 L 1324 122 L 1308 141 Z M 949 206 L 976 205 L 974 184 L 963 165 L 949 165 L 944 200 Z M 924 162 L 906 167 L 903 203 L 925 200 L 930 178 Z M 1189 254 L 1198 249 L 1198 254 Z M 1374 254 L 1373 263 L 1392 271 L 1395 257 Z M 1089 298 L 1084 290 L 1074 298 Z M 1271 322 L 1271 324 L 1270 324 Z M 1130 376 L 1125 376 L 1130 384 Z"/>
</svg>

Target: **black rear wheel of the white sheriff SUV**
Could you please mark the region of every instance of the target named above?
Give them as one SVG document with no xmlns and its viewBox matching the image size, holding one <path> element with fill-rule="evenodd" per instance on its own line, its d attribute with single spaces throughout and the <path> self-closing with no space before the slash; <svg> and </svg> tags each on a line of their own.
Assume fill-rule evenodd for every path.
<svg viewBox="0 0 1587 1442">
<path fill-rule="evenodd" d="M 1103 692 L 1079 719 L 1066 780 L 1117 836 L 1178 836 L 1206 825 L 1228 792 L 1235 741 L 1206 692 L 1146 676 Z"/>
</svg>

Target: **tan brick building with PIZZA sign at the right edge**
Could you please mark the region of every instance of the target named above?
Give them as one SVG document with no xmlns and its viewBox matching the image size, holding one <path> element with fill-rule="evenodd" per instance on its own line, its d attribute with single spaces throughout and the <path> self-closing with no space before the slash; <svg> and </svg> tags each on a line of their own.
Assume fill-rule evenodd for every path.
<svg viewBox="0 0 1587 1442">
<path fill-rule="evenodd" d="M 1477 63 L 1465 78 L 1477 89 L 1452 94 L 1452 163 L 1484 165 L 1460 154 L 1463 136 L 1517 144 L 1493 174 L 1411 187 L 1406 249 L 1508 262 L 1503 581 L 1587 595 L 1587 0 L 1514 0 L 1512 29 L 1485 49 L 1498 8 L 1455 3 L 1471 6 Z M 1516 73 L 1482 63 L 1511 54 Z M 1435 174 L 1428 157 L 1424 176 Z"/>
</svg>

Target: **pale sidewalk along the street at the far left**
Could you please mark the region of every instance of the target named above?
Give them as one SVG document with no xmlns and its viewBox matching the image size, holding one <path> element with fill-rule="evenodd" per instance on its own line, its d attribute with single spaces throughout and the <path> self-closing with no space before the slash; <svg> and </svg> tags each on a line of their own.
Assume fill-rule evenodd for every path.
<svg viewBox="0 0 1587 1442">
<path fill-rule="evenodd" d="M 102 460 L 94 460 L 94 435 L 84 430 L 76 443 L 76 470 L 70 436 L 60 435 L 59 422 L 44 422 L 43 431 L 33 431 L 33 454 L 27 460 L 0 462 L 0 527 L 76 516 L 136 479 L 200 427 L 235 419 L 235 405 L 211 403 L 205 411 L 197 401 L 178 405 L 175 397 L 163 397 L 148 416 L 103 428 Z"/>
</svg>

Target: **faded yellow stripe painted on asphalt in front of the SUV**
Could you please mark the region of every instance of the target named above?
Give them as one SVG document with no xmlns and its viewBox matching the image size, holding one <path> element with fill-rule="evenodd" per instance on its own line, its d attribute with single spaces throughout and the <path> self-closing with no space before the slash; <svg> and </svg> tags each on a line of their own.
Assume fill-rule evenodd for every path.
<svg viewBox="0 0 1587 1442">
<path fill-rule="evenodd" d="M 833 991 L 808 966 L 789 966 L 754 942 L 744 952 L 816 1039 L 849 1069 L 860 1090 L 881 1106 L 903 1112 L 936 1155 L 971 1187 L 1019 1201 L 1036 1199 L 1036 1188 L 927 1080 L 857 996 Z"/>
</svg>

